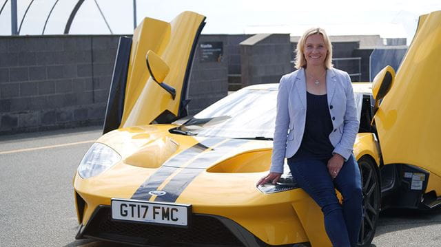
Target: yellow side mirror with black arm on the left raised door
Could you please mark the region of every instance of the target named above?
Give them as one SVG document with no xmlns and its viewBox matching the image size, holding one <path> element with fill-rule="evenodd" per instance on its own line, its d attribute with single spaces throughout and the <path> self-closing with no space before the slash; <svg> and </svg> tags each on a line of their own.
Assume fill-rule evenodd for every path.
<svg viewBox="0 0 441 247">
<path fill-rule="evenodd" d="M 169 92 L 173 99 L 176 98 L 176 89 L 163 83 L 168 72 L 170 72 L 170 67 L 168 67 L 167 63 L 165 63 L 165 61 L 152 50 L 147 52 L 145 62 L 147 63 L 147 69 L 149 70 L 152 79 L 165 89 L 165 91 Z"/>
</svg>

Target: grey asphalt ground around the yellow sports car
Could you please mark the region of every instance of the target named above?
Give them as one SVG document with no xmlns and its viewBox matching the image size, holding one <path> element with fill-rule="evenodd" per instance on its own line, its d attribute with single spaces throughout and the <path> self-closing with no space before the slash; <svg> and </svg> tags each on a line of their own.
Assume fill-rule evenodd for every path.
<svg viewBox="0 0 441 247">
<path fill-rule="evenodd" d="M 72 179 L 100 127 L 0 136 L 0 246 L 121 246 L 75 240 Z M 376 246 L 441 246 L 441 209 L 380 214 Z"/>
</svg>

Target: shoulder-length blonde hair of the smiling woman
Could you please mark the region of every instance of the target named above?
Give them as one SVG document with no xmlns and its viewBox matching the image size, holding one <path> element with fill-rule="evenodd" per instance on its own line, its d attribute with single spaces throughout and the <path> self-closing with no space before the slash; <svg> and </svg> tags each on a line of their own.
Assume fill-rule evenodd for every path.
<svg viewBox="0 0 441 247">
<path fill-rule="evenodd" d="M 325 46 L 328 50 L 325 58 L 325 67 L 327 69 L 331 69 L 331 67 L 334 66 L 332 64 L 332 44 L 329 40 L 329 36 L 322 28 L 310 28 L 309 30 L 306 30 L 305 34 L 300 37 L 300 40 L 297 43 L 296 61 L 294 62 L 294 67 L 296 67 L 297 69 L 300 69 L 301 67 L 306 67 L 307 64 L 305 59 L 305 43 L 306 39 L 313 34 L 321 34 L 323 36 Z"/>
</svg>

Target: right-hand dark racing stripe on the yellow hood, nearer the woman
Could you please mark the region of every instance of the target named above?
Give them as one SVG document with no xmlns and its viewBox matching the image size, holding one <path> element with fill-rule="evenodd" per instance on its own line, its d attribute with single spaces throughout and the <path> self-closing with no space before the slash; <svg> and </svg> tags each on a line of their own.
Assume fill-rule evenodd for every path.
<svg viewBox="0 0 441 247">
<path fill-rule="evenodd" d="M 172 178 L 162 189 L 166 194 L 156 197 L 155 202 L 176 202 L 176 199 L 187 188 L 188 184 L 205 171 L 207 167 L 212 166 L 214 161 L 247 142 L 249 140 L 228 140 L 211 151 L 207 151 Z"/>
</svg>

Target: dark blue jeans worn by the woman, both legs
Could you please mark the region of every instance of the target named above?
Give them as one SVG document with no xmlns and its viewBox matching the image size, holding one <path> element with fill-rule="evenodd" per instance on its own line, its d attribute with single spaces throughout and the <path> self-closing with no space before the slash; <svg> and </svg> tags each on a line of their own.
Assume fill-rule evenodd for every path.
<svg viewBox="0 0 441 247">
<path fill-rule="evenodd" d="M 329 175 L 327 160 L 288 159 L 293 178 L 322 208 L 326 233 L 333 246 L 356 246 L 362 219 L 360 169 L 351 155 L 334 180 Z M 335 189 L 343 197 L 340 205 Z"/>
</svg>

